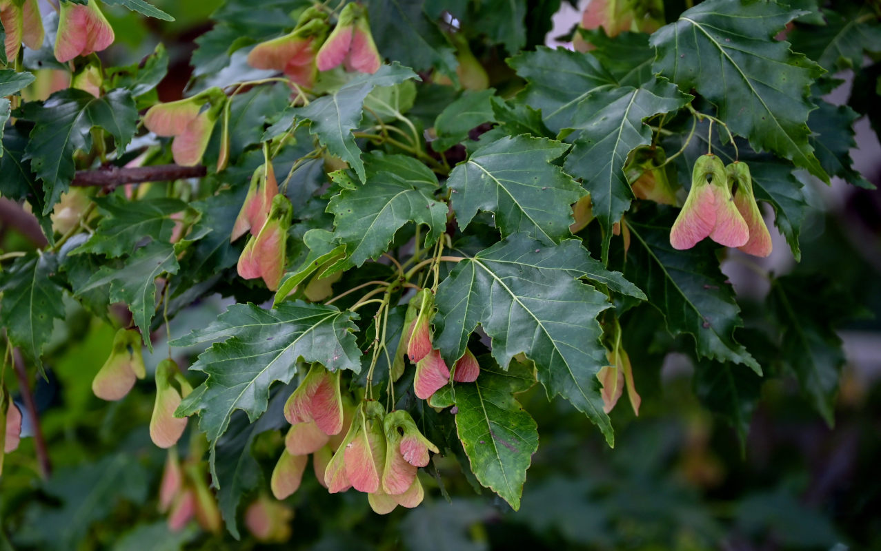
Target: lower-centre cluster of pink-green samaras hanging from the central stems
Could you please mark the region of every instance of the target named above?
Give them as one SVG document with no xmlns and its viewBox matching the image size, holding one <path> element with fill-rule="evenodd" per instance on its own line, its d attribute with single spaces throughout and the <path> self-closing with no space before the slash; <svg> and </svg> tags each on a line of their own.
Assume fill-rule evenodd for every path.
<svg viewBox="0 0 881 551">
<path fill-rule="evenodd" d="M 416 364 L 414 392 L 428 399 L 450 378 L 457 382 L 477 380 L 477 358 L 466 349 L 453 366 L 452 374 L 433 348 L 431 319 L 433 295 L 421 290 L 411 299 L 398 345 L 399 361 L 389 376 L 403 374 L 403 350 Z M 437 447 L 424 437 L 409 413 L 389 413 L 374 400 L 352 400 L 340 391 L 340 372 L 314 364 L 285 404 L 285 418 L 291 429 L 285 450 L 272 473 L 272 493 L 278 499 L 300 488 L 308 454 L 313 454 L 315 476 L 330 493 L 354 488 L 368 495 L 370 506 L 385 514 L 396 508 L 415 507 L 422 502 L 423 489 L 416 476 L 418 467 L 428 465 L 429 451 Z"/>
</svg>

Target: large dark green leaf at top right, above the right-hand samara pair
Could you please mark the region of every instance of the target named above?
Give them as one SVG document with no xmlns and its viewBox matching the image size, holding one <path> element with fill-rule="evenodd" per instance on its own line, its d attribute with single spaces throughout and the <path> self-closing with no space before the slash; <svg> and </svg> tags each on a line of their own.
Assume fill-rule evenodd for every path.
<svg viewBox="0 0 881 551">
<path fill-rule="evenodd" d="M 755 151 L 774 151 L 829 180 L 808 143 L 812 79 L 822 70 L 774 35 L 801 11 L 754 0 L 707 0 L 649 42 L 655 72 L 712 101 L 729 129 Z"/>
</svg>

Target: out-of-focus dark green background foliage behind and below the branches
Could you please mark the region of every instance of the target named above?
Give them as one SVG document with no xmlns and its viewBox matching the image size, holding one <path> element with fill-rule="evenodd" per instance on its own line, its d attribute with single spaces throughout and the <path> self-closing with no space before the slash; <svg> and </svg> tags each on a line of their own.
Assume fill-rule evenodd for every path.
<svg viewBox="0 0 881 551">
<path fill-rule="evenodd" d="M 137 62 L 163 42 L 171 62 L 159 96 L 174 99 L 189 80 L 192 40 L 210 28 L 207 16 L 220 2 L 154 4 L 177 20 L 146 20 L 122 8 L 106 8 L 118 40 L 102 57 L 109 65 Z M 867 177 L 877 180 L 872 175 Z M 206 533 L 195 522 L 173 533 L 158 511 L 166 453 L 152 444 L 147 430 L 152 378 L 148 374 L 139 381 L 126 400 L 95 398 L 91 381 L 114 330 L 71 302 L 49 350 L 48 381 L 38 380 L 35 389 L 53 474 L 41 478 L 32 437 L 23 438 L 19 450 L 6 457 L 0 479 L 0 549 L 881 549 L 881 272 L 877 259 L 866 258 L 866 242 L 877 247 L 881 240 L 881 199 L 877 191 L 836 190 L 840 196 L 826 204 L 825 214 L 805 224 L 813 230 L 803 233 L 802 263 L 782 264 L 796 275 L 819 270 L 834 276 L 841 296 L 868 314 L 843 327 L 852 355 L 834 428 L 784 374 L 766 383 L 757 379 L 754 395 L 739 397 L 759 404 L 743 420 L 749 423 L 749 436 L 741 442 L 729 422 L 710 413 L 725 397 L 715 395 L 700 377 L 701 366 L 685 353 L 658 352 L 670 347 L 687 351 L 687 343 L 651 334 L 661 321 L 641 306 L 622 320 L 625 334 L 633 342 L 654 344 L 627 346 L 643 402 L 639 418 L 624 400 L 611 414 L 618 435 L 615 449 L 604 444 L 584 415 L 561 400 L 549 402 L 539 387 L 522 395 L 541 438 L 521 511 L 478 491 L 470 475 L 463 474 L 467 465 L 460 468 L 455 458 L 439 458 L 430 469 L 438 477 L 421 475 L 426 500 L 412 511 L 374 515 L 360 494 L 329 496 L 309 469 L 302 488 L 285 502 L 294 514 L 292 536 L 285 543 L 259 542 L 244 529 L 241 540 L 234 540 L 226 532 Z M 823 197 L 818 193 L 816 201 L 822 204 Z M 0 244 L 4 251 L 28 246 L 6 230 Z M 739 277 L 735 283 L 749 334 L 749 327 L 761 327 L 766 315 L 760 276 L 750 270 L 752 276 L 744 276 L 737 262 L 723 268 Z M 223 309 L 219 299 L 204 301 L 174 320 L 173 333 L 204 327 Z M 750 347 L 758 350 L 754 354 L 768 371 L 783 369 L 770 346 L 761 357 L 758 337 Z M 155 348 L 164 350 L 165 344 L 157 342 Z M 148 358 L 148 368 L 159 360 L 157 354 Z M 7 382 L 15 395 L 15 382 Z M 194 425 L 189 423 L 181 442 L 188 441 Z M 24 434 L 28 431 L 26 423 Z M 267 476 L 280 441 L 280 433 L 270 431 L 255 442 L 255 457 Z M 246 507 L 258 497 L 248 497 Z"/>
</svg>

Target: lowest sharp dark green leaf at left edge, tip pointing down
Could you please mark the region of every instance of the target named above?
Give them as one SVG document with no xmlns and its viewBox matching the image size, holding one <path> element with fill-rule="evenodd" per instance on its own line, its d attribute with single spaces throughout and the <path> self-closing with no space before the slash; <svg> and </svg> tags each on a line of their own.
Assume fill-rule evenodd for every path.
<svg viewBox="0 0 881 551">
<path fill-rule="evenodd" d="M 13 346 L 42 369 L 40 356 L 52 336 L 53 320 L 64 319 L 62 288 L 54 276 L 53 253 L 28 253 L 0 272 L 0 326 Z"/>
</svg>

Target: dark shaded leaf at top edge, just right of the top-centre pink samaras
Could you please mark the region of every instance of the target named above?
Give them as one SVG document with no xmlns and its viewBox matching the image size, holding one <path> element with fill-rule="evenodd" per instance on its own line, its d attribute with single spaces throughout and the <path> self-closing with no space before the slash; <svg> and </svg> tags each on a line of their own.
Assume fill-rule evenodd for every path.
<svg viewBox="0 0 881 551">
<path fill-rule="evenodd" d="M 374 0 L 367 4 L 370 28 L 380 55 L 415 70 L 437 68 L 455 77 L 453 48 L 423 11 L 422 2 Z"/>
</svg>

